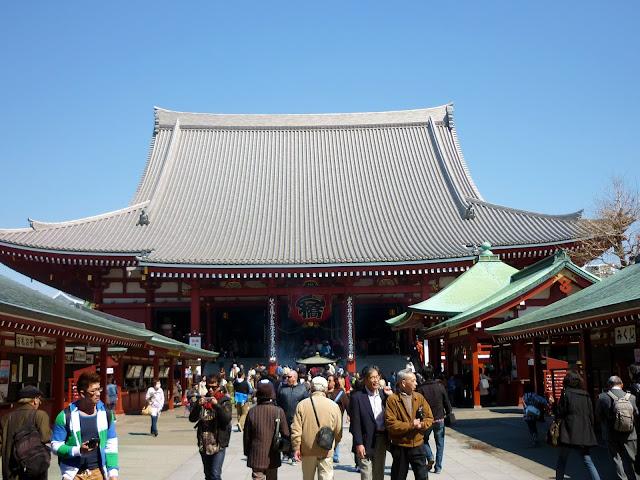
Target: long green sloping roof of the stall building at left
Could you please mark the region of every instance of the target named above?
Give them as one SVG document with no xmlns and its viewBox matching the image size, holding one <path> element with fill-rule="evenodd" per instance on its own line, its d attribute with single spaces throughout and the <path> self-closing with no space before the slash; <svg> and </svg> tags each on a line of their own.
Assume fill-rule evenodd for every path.
<svg viewBox="0 0 640 480">
<path fill-rule="evenodd" d="M 20 315 L 52 325 L 108 335 L 116 339 L 171 348 L 203 358 L 215 358 L 218 355 L 216 352 L 195 348 L 149 331 L 143 324 L 55 300 L 2 275 L 0 275 L 0 313 Z"/>
</svg>

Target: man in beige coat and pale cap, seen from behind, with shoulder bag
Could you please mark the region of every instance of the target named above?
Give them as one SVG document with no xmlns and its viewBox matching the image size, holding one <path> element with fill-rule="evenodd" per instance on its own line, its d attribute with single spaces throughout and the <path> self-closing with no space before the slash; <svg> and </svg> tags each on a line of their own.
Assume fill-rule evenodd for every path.
<svg viewBox="0 0 640 480">
<path fill-rule="evenodd" d="M 313 480 L 316 469 L 318 480 L 333 479 L 333 448 L 325 450 L 316 442 L 316 435 L 321 427 L 329 427 L 334 431 L 334 446 L 340 443 L 342 438 L 340 408 L 325 396 L 327 387 L 327 380 L 323 377 L 311 380 L 311 397 L 298 404 L 291 426 L 291 446 L 295 459 L 302 459 L 303 480 Z M 314 406 L 318 414 L 317 421 L 313 412 Z"/>
</svg>

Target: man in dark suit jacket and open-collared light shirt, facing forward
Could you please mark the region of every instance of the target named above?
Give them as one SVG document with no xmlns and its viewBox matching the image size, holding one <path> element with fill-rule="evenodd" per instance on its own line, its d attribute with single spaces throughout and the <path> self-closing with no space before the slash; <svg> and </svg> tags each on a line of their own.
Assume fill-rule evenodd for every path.
<svg viewBox="0 0 640 480">
<path fill-rule="evenodd" d="M 372 365 L 362 369 L 361 379 L 364 388 L 351 394 L 349 408 L 353 452 L 361 480 L 383 480 L 388 448 L 384 411 L 391 387 L 380 388 L 380 371 Z"/>
</svg>

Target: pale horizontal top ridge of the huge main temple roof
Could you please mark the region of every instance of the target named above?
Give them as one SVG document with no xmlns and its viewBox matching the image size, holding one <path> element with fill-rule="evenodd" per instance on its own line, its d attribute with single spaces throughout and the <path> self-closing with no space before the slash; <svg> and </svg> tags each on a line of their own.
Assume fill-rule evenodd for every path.
<svg viewBox="0 0 640 480">
<path fill-rule="evenodd" d="M 182 128 L 227 127 L 227 128 L 302 128 L 302 127 L 372 127 L 426 123 L 429 117 L 435 121 L 446 121 L 453 126 L 453 103 L 387 112 L 357 113 L 196 113 L 165 110 L 154 107 L 156 132 L 162 127 L 171 127 L 179 120 Z"/>
</svg>

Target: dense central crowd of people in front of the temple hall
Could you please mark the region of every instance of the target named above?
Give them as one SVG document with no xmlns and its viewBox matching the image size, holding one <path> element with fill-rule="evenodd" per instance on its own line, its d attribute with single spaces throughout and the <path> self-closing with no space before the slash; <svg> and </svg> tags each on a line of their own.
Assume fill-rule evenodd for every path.
<svg viewBox="0 0 640 480">
<path fill-rule="evenodd" d="M 436 378 L 431 367 L 416 377 L 413 364 L 408 361 L 407 366 L 388 379 L 375 366 L 349 374 L 337 363 L 279 366 L 274 374 L 265 365 L 246 369 L 233 363 L 228 371 L 221 366 L 218 374 L 202 377 L 187 393 L 186 412 L 197 422 L 206 480 L 221 478 L 234 429 L 243 434 L 252 478 L 275 479 L 287 461 L 300 462 L 303 479 L 314 478 L 316 472 L 321 480 L 331 479 L 333 465 L 340 461 L 345 414 L 353 436 L 354 469 L 363 479 L 383 478 L 387 450 L 393 478 L 406 478 L 409 466 L 418 479 L 427 478 L 432 468 L 439 473 L 444 419 L 451 413 L 446 382 Z M 329 443 L 322 444 L 322 433 Z M 428 445 L 432 433 L 434 450 Z M 277 435 L 286 439 L 287 448 L 274 447 Z"/>
</svg>

